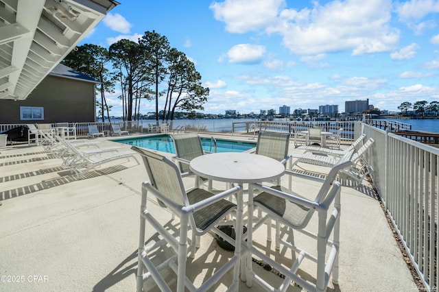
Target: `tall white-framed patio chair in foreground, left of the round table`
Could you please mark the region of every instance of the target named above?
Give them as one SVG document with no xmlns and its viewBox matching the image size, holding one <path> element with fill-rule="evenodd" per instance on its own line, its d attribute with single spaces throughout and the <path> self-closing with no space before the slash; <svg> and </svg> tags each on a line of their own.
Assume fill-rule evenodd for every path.
<svg viewBox="0 0 439 292">
<path fill-rule="evenodd" d="M 232 269 L 235 265 L 238 265 L 235 268 L 239 268 L 240 258 L 233 256 L 226 265 L 217 269 L 211 278 L 206 280 L 200 287 L 195 287 L 186 276 L 187 265 L 190 269 L 190 264 L 187 264 L 188 247 L 193 255 L 193 252 L 195 252 L 195 236 L 201 236 L 206 232 L 214 232 L 228 243 L 234 244 L 233 239 L 216 226 L 230 212 L 236 210 L 236 205 L 228 202 L 225 198 L 240 191 L 241 187 L 236 186 L 217 195 L 201 188 L 186 191 L 180 171 L 174 162 L 146 149 L 138 147 L 132 147 L 132 149 L 141 154 L 150 178 L 149 181 L 142 184 L 137 291 L 143 291 L 143 282 L 148 278 L 153 278 L 161 291 L 171 291 L 171 288 L 159 273 L 164 267 L 171 267 L 171 271 L 176 273 L 176 291 L 185 291 L 185 286 L 189 291 L 208 291 L 229 269 Z M 172 212 L 178 215 L 180 219 L 178 232 L 163 227 L 163 222 L 158 221 L 150 213 L 147 209 L 150 198 L 147 195 L 153 195 L 161 206 L 171 209 Z M 230 222 L 225 223 L 230 224 Z M 145 246 L 146 227 L 154 228 L 163 239 Z M 192 231 L 192 236 L 188 244 L 189 228 Z M 149 242 L 149 240 L 147 241 Z M 167 253 L 157 253 L 156 250 L 164 245 L 169 245 L 174 255 L 161 260 L 160 257 L 165 257 Z M 206 264 L 206 267 L 209 267 L 209 264 Z M 147 271 L 144 271 L 145 268 Z"/>
</svg>

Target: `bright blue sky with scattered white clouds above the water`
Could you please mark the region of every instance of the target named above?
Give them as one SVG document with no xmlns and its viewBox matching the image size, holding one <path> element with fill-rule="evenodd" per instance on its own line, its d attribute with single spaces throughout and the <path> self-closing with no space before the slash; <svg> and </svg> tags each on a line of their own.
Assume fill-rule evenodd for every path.
<svg viewBox="0 0 439 292">
<path fill-rule="evenodd" d="M 439 101 L 439 0 L 119 2 L 80 45 L 155 30 L 195 63 L 211 90 L 206 113 Z M 154 109 L 144 102 L 141 113 Z"/>
</svg>

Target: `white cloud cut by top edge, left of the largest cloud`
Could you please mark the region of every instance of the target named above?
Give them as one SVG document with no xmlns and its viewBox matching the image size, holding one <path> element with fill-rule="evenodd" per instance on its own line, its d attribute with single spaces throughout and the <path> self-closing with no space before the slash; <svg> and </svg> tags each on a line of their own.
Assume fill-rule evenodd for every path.
<svg viewBox="0 0 439 292">
<path fill-rule="evenodd" d="M 285 0 L 226 0 L 213 2 L 215 19 L 226 23 L 226 30 L 237 34 L 257 31 L 276 21 L 278 10 Z"/>
</svg>

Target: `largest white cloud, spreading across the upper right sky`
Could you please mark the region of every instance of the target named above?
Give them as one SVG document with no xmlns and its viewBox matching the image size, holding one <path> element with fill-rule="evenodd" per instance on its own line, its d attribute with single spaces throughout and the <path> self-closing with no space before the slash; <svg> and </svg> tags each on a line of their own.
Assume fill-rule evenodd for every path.
<svg viewBox="0 0 439 292">
<path fill-rule="evenodd" d="M 399 31 L 390 27 L 391 4 L 390 0 L 316 2 L 312 9 L 283 10 L 267 32 L 281 34 L 285 47 L 300 55 L 390 51 L 399 40 Z"/>
</svg>

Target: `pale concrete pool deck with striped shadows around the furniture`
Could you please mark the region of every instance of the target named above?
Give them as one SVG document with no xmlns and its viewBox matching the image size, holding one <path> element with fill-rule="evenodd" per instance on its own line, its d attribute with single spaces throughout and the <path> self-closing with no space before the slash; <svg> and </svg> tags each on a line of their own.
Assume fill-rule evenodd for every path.
<svg viewBox="0 0 439 292">
<path fill-rule="evenodd" d="M 93 140 L 100 141 L 101 147 L 114 146 L 108 139 Z M 255 141 L 255 137 L 246 139 Z M 120 151 L 129 148 L 122 145 Z M 293 143 L 290 150 L 295 151 Z M 0 149 L 0 291 L 135 291 L 145 167 L 130 160 L 105 165 L 77 180 L 61 162 L 40 146 Z M 309 166 L 305 171 L 324 169 Z M 191 183 L 185 179 L 185 184 Z M 328 291 L 418 290 L 372 187 L 347 179 L 342 184 L 340 284 L 330 282 Z M 295 178 L 294 188 L 306 194 L 317 191 L 319 185 Z M 149 206 L 164 226 L 178 225 L 178 219 L 171 220 L 171 214 L 155 201 Z M 289 261 L 288 251 L 274 252 L 274 243 L 265 240 L 265 230 L 257 230 L 255 244 L 276 260 Z M 147 230 L 146 238 L 154 238 L 154 233 Z M 230 256 L 211 234 L 202 236 L 195 258 L 188 259 L 189 278 L 195 283 L 206 280 Z M 282 280 L 256 263 L 254 270 L 269 282 Z M 312 282 L 313 265 L 304 263 L 300 270 Z M 165 271 L 164 276 L 175 282 L 173 273 Z M 212 291 L 226 291 L 231 280 L 227 273 Z M 152 281 L 144 289 L 158 291 Z M 287 289 L 301 290 L 294 283 Z M 263 290 L 241 282 L 239 291 Z"/>
</svg>

